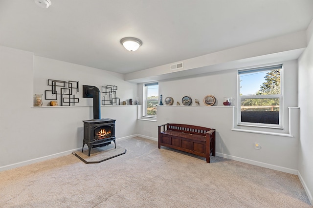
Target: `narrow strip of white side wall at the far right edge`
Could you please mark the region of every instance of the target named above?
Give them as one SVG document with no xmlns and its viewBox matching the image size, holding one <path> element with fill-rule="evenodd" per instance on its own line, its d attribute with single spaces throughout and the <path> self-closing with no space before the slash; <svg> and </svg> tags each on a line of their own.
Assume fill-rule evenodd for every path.
<svg viewBox="0 0 313 208">
<path fill-rule="evenodd" d="M 311 33 L 309 33 L 311 31 Z M 313 205 L 313 21 L 308 28 L 308 47 L 298 60 L 300 142 L 299 177 Z"/>
</svg>

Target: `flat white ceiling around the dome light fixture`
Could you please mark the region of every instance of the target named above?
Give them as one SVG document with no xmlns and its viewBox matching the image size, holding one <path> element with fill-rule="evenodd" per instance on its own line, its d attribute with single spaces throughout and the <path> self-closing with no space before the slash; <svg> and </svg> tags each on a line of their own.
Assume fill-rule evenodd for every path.
<svg viewBox="0 0 313 208">
<path fill-rule="evenodd" d="M 122 74 L 306 30 L 313 0 L 0 0 L 0 45 Z M 120 44 L 139 38 L 134 52 Z"/>
</svg>

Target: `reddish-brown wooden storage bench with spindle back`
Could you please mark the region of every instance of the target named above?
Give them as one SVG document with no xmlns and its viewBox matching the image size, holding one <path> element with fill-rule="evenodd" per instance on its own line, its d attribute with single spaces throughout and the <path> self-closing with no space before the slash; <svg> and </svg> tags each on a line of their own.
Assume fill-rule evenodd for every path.
<svg viewBox="0 0 313 208">
<path fill-rule="evenodd" d="M 206 158 L 215 156 L 215 129 L 185 124 L 158 125 L 158 148 L 167 146 Z"/>
</svg>

